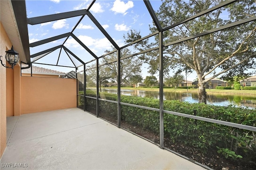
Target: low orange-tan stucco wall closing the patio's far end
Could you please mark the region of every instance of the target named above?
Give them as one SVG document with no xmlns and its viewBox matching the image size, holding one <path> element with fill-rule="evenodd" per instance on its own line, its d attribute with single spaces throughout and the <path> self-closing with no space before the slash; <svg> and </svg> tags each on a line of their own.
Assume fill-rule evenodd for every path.
<svg viewBox="0 0 256 170">
<path fill-rule="evenodd" d="M 76 79 L 21 78 L 21 114 L 76 107 Z"/>
</svg>

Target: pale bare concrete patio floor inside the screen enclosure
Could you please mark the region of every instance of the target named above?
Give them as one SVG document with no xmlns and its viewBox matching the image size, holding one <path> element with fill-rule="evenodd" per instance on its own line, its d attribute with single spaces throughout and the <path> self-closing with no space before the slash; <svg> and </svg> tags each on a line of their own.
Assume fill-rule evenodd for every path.
<svg viewBox="0 0 256 170">
<path fill-rule="evenodd" d="M 8 117 L 7 140 L 0 169 L 204 169 L 78 108 Z"/>
</svg>

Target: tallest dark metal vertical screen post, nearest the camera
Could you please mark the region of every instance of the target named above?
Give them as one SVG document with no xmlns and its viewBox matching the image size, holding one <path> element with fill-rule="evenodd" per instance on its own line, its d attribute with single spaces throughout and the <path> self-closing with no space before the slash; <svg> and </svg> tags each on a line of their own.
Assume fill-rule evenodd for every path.
<svg viewBox="0 0 256 170">
<path fill-rule="evenodd" d="M 160 99 L 160 148 L 164 147 L 164 82 L 163 82 L 163 32 L 159 32 L 159 99 Z"/>
</svg>

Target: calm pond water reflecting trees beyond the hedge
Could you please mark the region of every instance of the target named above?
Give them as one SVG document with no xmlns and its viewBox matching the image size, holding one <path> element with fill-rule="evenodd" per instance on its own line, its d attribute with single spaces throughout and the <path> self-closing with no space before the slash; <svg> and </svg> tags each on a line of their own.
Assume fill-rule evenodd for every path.
<svg viewBox="0 0 256 170">
<path fill-rule="evenodd" d="M 117 89 L 102 89 L 102 92 L 115 93 Z M 126 90 L 121 89 L 122 95 L 152 97 L 159 99 L 159 91 L 145 91 L 145 90 Z M 198 103 L 198 93 L 178 93 L 178 92 L 164 92 L 164 100 L 179 100 L 190 103 Z M 241 95 L 207 95 L 207 104 L 228 106 L 235 105 L 237 107 L 248 107 L 250 109 L 256 108 L 255 96 L 241 96 Z"/>
</svg>

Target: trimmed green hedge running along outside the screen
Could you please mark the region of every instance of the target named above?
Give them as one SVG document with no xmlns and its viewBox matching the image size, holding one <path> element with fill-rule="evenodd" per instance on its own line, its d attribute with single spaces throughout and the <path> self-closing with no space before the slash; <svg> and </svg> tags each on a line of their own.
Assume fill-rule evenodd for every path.
<svg viewBox="0 0 256 170">
<path fill-rule="evenodd" d="M 94 92 L 86 91 L 86 94 L 95 97 Z M 100 93 L 100 98 L 117 101 L 117 95 L 111 93 Z M 86 107 L 96 107 L 95 99 L 89 99 L 89 101 L 86 103 Z M 153 98 L 121 95 L 121 102 L 159 108 L 159 100 Z M 100 112 L 110 113 L 114 119 L 117 119 L 116 103 L 99 101 L 99 105 Z M 255 109 L 164 101 L 164 110 L 188 115 L 193 115 L 196 110 L 197 116 L 200 117 L 256 127 Z M 159 112 L 122 105 L 121 113 L 123 121 L 159 133 Z M 256 161 L 253 159 L 256 156 L 256 132 L 164 113 L 164 136 L 167 136 L 173 143 L 193 146 L 206 154 L 210 150 L 217 152 L 218 146 L 219 148 L 228 148 L 243 156 L 243 161 Z"/>
</svg>

